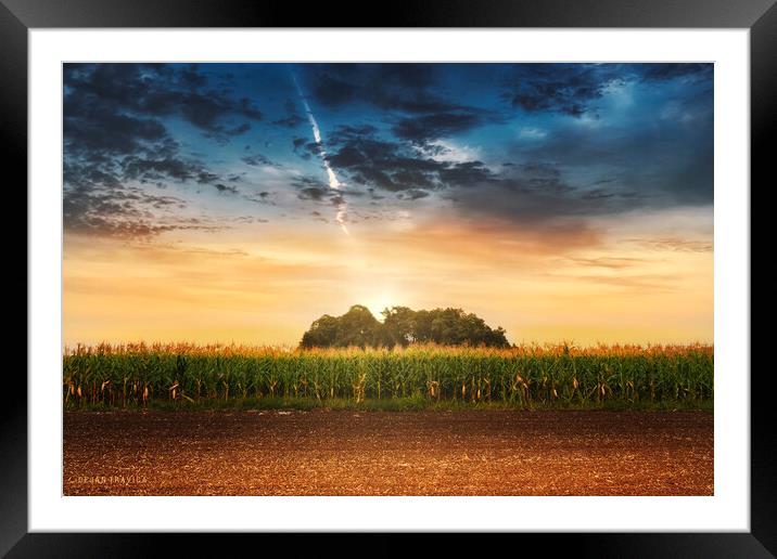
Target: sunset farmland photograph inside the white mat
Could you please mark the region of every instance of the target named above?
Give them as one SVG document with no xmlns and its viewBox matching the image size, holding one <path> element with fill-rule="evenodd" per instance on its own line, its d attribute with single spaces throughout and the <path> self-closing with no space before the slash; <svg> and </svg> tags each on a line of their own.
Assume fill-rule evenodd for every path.
<svg viewBox="0 0 777 559">
<path fill-rule="evenodd" d="M 61 68 L 65 497 L 715 496 L 713 62 Z"/>
</svg>

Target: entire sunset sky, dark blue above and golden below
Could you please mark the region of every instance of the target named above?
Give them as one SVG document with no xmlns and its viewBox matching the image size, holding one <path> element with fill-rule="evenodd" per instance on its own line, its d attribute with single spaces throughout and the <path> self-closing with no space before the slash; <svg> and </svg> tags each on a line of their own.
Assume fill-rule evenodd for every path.
<svg viewBox="0 0 777 559">
<path fill-rule="evenodd" d="M 68 346 L 713 341 L 712 64 L 65 64 L 63 119 Z"/>
</svg>

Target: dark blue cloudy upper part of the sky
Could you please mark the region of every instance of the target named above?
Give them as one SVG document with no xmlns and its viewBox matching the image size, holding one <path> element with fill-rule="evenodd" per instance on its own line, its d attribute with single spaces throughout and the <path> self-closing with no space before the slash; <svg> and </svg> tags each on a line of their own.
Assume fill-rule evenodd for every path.
<svg viewBox="0 0 777 559">
<path fill-rule="evenodd" d="M 139 185 L 263 206 L 442 199 L 537 226 L 712 203 L 712 64 L 66 64 L 63 103 L 80 231 L 166 231 L 143 224 L 178 206 Z"/>
</svg>

